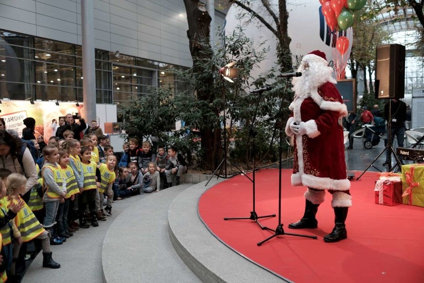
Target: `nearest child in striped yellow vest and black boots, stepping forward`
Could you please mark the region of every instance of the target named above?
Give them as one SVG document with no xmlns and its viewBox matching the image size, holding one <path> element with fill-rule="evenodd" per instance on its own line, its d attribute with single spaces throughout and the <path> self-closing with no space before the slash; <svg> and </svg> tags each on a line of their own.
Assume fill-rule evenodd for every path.
<svg viewBox="0 0 424 283">
<path fill-rule="evenodd" d="M 12 173 L 7 177 L 7 195 L 11 203 L 22 203 L 19 194 L 25 193 L 26 178 L 22 174 Z M 29 242 L 33 239 L 40 239 L 43 249 L 43 267 L 60 268 L 60 264 L 52 259 L 50 251 L 49 233 L 43 229 L 43 226 L 35 218 L 34 213 L 28 205 L 23 202 L 23 208 L 16 214 L 14 218 L 20 237 L 15 240 L 13 246 L 13 258 L 17 258 L 20 245 L 23 242 Z"/>
</svg>

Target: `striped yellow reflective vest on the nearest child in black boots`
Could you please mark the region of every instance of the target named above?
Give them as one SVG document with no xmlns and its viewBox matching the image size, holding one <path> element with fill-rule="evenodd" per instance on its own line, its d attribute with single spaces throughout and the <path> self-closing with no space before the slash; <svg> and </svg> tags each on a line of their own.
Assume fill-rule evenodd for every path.
<svg viewBox="0 0 424 283">
<path fill-rule="evenodd" d="M 21 199 L 20 196 L 19 199 Z M 13 199 L 13 202 L 17 203 L 17 200 Z M 44 232 L 43 226 L 25 202 L 22 209 L 16 214 L 14 221 L 24 242 L 29 242 Z"/>
</svg>

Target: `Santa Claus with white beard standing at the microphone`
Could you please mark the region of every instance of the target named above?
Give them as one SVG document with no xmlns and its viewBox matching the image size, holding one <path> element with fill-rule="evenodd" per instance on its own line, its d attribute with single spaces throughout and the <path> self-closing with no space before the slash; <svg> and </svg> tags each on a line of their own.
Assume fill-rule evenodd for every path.
<svg viewBox="0 0 424 283">
<path fill-rule="evenodd" d="M 346 179 L 343 128 L 338 120 L 347 115 L 346 105 L 331 77 L 325 54 L 319 50 L 304 56 L 293 78 L 295 98 L 290 104 L 292 114 L 287 121 L 286 134 L 294 136 L 295 159 L 293 186 L 307 186 L 305 214 L 289 228 L 317 228 L 315 215 L 324 201 L 325 190 L 332 195 L 335 226 L 324 236 L 325 242 L 347 238 L 345 220 L 352 205 L 350 182 Z"/>
</svg>

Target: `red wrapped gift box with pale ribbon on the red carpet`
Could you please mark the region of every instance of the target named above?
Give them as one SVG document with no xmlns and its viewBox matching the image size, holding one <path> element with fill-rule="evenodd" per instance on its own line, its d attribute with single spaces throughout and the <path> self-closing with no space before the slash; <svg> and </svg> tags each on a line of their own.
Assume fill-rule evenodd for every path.
<svg viewBox="0 0 424 283">
<path fill-rule="evenodd" d="M 378 180 L 375 182 L 375 203 L 382 205 L 398 205 L 402 203 L 402 182 Z"/>
</svg>

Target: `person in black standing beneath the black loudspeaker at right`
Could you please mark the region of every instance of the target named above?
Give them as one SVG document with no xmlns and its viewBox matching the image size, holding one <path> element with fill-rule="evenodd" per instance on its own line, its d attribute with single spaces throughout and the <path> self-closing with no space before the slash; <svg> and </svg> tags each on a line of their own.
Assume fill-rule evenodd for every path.
<svg viewBox="0 0 424 283">
<path fill-rule="evenodd" d="M 396 136 L 398 146 L 404 147 L 406 110 L 406 103 L 398 98 L 390 99 L 384 105 L 384 118 L 387 121 L 387 138 L 390 138 L 390 144 L 392 146 Z M 392 152 L 390 150 L 386 150 L 386 161 L 383 163 L 383 166 L 389 166 L 391 154 Z"/>
</svg>

